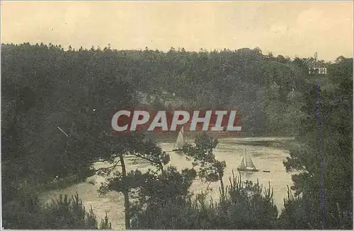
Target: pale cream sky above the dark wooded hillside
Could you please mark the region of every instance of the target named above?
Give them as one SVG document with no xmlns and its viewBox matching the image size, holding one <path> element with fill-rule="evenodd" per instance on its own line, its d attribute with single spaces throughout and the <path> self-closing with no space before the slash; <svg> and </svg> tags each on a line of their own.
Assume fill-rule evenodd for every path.
<svg viewBox="0 0 354 231">
<path fill-rule="evenodd" d="M 1 1 L 2 43 L 353 57 L 353 1 Z"/>
</svg>

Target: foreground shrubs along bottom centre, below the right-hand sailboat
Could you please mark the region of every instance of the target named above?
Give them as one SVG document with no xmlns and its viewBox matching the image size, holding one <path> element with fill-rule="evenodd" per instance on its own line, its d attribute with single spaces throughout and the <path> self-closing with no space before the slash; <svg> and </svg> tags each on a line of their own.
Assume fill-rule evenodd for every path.
<svg viewBox="0 0 354 231">
<path fill-rule="evenodd" d="M 278 215 L 273 192 L 252 182 L 230 178 L 227 196 L 210 203 L 205 194 L 195 199 L 171 198 L 148 206 L 139 215 L 136 229 L 271 229 Z"/>
</svg>

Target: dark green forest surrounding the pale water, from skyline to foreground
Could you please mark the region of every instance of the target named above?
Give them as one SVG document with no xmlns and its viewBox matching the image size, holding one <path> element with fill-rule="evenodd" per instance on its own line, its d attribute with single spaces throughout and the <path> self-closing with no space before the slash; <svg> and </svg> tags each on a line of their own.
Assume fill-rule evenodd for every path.
<svg viewBox="0 0 354 231">
<path fill-rule="evenodd" d="M 326 64 L 327 75 L 309 74 L 316 62 Z M 118 108 L 138 105 L 137 91 L 166 92 L 188 108 L 236 109 L 246 136 L 294 136 L 284 165 L 294 172 L 295 194 L 289 191 L 280 216 L 270 188 L 264 194 L 259 184 L 237 177 L 224 186 L 224 164 L 212 153 L 217 140 L 205 134 L 197 146 L 185 147 L 195 165 L 203 166 L 200 172 L 164 167 L 169 156 L 143 134 L 113 136 L 111 117 Z M 352 97 L 352 58 L 326 63 L 273 57 L 258 48 L 160 52 L 1 45 L 3 226 L 109 228 L 108 218 L 98 225 L 79 196 L 44 207 L 38 202 L 53 179 L 74 184 L 96 173 L 93 162 L 106 160 L 112 168 L 99 172 L 108 177 L 101 191 L 125 195 L 127 228 L 352 229 Z M 165 107 L 159 100 L 152 106 Z M 148 160 L 156 171 L 126 172 L 126 153 Z M 120 172 L 113 176 L 118 162 Z M 188 196 L 196 174 L 221 182 L 218 203 Z M 139 200 L 132 203 L 136 188 Z"/>
</svg>

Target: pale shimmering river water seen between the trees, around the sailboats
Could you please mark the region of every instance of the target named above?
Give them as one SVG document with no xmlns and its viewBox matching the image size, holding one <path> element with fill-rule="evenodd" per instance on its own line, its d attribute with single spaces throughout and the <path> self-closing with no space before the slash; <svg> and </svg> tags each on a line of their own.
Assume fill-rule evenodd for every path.
<svg viewBox="0 0 354 231">
<path fill-rule="evenodd" d="M 229 184 L 229 178 L 232 177 L 233 173 L 235 177 L 241 176 L 241 179 L 250 180 L 252 182 L 258 182 L 263 184 L 264 187 L 273 187 L 273 198 L 275 205 L 278 210 L 281 211 L 283 208 L 283 199 L 287 197 L 287 185 L 292 185 L 292 180 L 290 174 L 285 172 L 285 167 L 282 165 L 282 161 L 285 160 L 289 151 L 282 150 L 272 147 L 264 146 L 250 146 L 246 144 L 237 144 L 241 138 L 225 138 L 219 139 L 219 144 L 215 149 L 215 156 L 218 160 L 225 160 L 227 167 L 224 170 L 224 184 Z M 244 138 L 246 140 L 247 138 Z M 256 139 L 256 138 L 253 138 Z M 265 139 L 265 138 L 261 138 Z M 244 141 L 243 139 L 241 139 Z M 173 143 L 160 143 L 159 144 L 163 150 L 172 150 Z M 247 149 L 249 155 L 253 160 L 254 165 L 256 165 L 259 172 L 237 172 L 236 168 L 241 162 L 241 158 L 244 155 L 244 150 Z M 190 161 L 186 160 L 185 155 L 181 153 L 170 153 L 171 162 L 169 165 L 177 167 L 178 170 L 182 170 L 185 167 L 192 167 Z M 147 170 L 152 168 L 146 162 L 135 161 L 134 158 L 129 158 L 127 160 L 127 170 Z M 103 167 L 103 163 L 97 163 L 95 167 Z M 263 172 L 263 170 L 269 170 L 270 172 Z M 108 218 L 112 222 L 112 227 L 114 229 L 124 229 L 124 201 L 120 193 L 110 192 L 106 195 L 98 194 L 98 188 L 101 182 L 104 182 L 103 177 L 93 176 L 91 177 L 96 182 L 95 185 L 89 184 L 88 182 L 75 184 L 67 189 L 49 191 L 43 196 L 43 200 L 48 201 L 52 196 L 57 196 L 59 194 L 73 195 L 76 191 L 79 193 L 84 206 L 86 208 L 93 207 L 93 211 L 96 213 L 98 219 L 103 218 L 105 213 L 108 214 Z M 219 182 L 212 182 L 209 185 L 211 191 L 207 192 L 207 195 L 212 197 L 214 201 L 219 198 Z M 207 191 L 208 184 L 203 184 L 199 180 L 193 182 L 190 187 L 190 191 L 194 194 L 198 194 L 201 191 Z"/>
</svg>

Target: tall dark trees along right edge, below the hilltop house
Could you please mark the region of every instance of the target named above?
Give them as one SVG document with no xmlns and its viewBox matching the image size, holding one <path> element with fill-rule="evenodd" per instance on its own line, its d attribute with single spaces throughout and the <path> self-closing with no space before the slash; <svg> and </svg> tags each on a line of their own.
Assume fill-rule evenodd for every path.
<svg viewBox="0 0 354 231">
<path fill-rule="evenodd" d="M 353 59 L 331 64 L 329 73 L 326 84 L 309 81 L 304 89 L 305 116 L 284 163 L 288 171 L 299 172 L 292 189 L 301 194 L 288 200 L 285 217 L 301 229 L 353 228 Z M 341 226 L 343 212 L 349 216 Z"/>
</svg>

